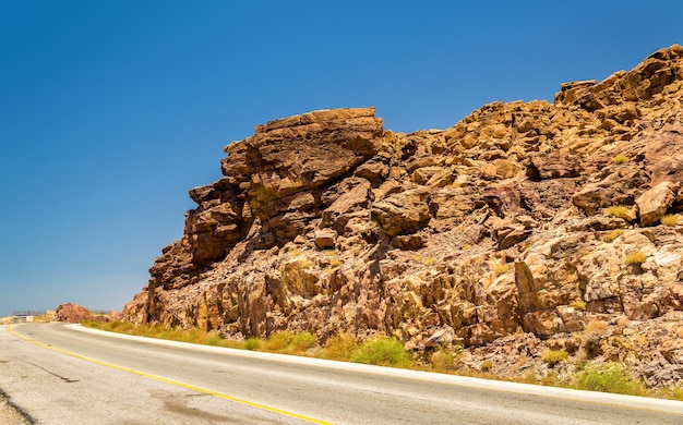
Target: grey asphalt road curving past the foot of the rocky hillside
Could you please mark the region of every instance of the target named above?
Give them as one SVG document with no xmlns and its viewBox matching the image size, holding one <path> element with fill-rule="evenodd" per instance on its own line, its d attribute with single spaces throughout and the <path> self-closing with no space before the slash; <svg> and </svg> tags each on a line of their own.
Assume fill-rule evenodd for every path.
<svg viewBox="0 0 683 425">
<path fill-rule="evenodd" d="M 39 424 L 683 424 L 683 402 L 61 324 L 0 327 L 0 389 Z"/>
</svg>

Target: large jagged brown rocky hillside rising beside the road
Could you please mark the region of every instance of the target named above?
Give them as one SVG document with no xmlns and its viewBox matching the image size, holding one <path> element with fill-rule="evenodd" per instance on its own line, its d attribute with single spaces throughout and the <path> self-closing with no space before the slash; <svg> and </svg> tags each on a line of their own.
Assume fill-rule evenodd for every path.
<svg viewBox="0 0 683 425">
<path fill-rule="evenodd" d="M 384 131 L 373 108 L 260 125 L 226 146 L 225 178 L 190 191 L 182 239 L 124 314 L 460 344 L 513 375 L 563 348 L 682 384 L 683 226 L 660 223 L 683 210 L 682 84 L 674 45 L 444 131 Z"/>
</svg>

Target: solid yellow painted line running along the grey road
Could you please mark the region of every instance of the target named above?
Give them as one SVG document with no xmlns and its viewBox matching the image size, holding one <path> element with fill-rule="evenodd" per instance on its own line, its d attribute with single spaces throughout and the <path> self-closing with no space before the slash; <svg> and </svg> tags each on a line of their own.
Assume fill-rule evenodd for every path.
<svg viewBox="0 0 683 425">
<path fill-rule="evenodd" d="M 34 339 L 26 338 L 26 337 L 24 337 L 22 335 L 19 335 L 19 333 L 16 333 L 16 332 L 14 332 L 12 330 L 11 326 L 8 326 L 8 332 L 10 332 L 12 336 L 14 336 L 16 338 L 20 338 L 20 339 L 22 339 L 22 340 L 24 340 L 26 342 L 31 342 L 31 343 L 33 343 L 35 345 L 43 347 L 45 349 L 55 351 L 57 353 L 67 354 L 67 355 L 70 355 L 72 357 L 75 357 L 75 359 L 84 360 L 86 362 L 95 363 L 95 364 L 98 364 L 100 366 L 106 366 L 106 367 L 110 367 L 112 369 L 127 372 L 129 374 L 142 376 L 142 377 L 147 378 L 147 379 L 157 380 L 159 382 L 175 385 L 176 387 L 180 387 L 180 388 L 189 389 L 189 390 L 192 390 L 192 391 L 197 391 L 197 392 L 202 392 L 202 393 L 205 393 L 205 394 L 214 396 L 214 397 L 217 397 L 217 398 L 220 398 L 220 399 L 225 399 L 225 400 L 228 400 L 228 401 L 232 401 L 232 402 L 236 402 L 236 403 L 249 405 L 251 408 L 264 410 L 266 412 L 277 413 L 277 414 L 280 414 L 280 415 L 284 415 L 284 416 L 289 416 L 289 417 L 293 417 L 293 418 L 297 418 L 297 420 L 305 421 L 305 422 L 309 422 L 311 424 L 332 425 L 331 422 L 320 421 L 320 420 L 316 420 L 316 418 L 313 418 L 313 417 L 300 415 L 298 413 L 288 412 L 286 410 L 281 410 L 281 409 L 277 409 L 277 408 L 271 408 L 268 405 L 261 404 L 261 403 L 255 403 L 255 402 L 249 401 L 249 400 L 238 399 L 236 397 L 231 397 L 231 396 L 224 394 L 224 393 L 220 393 L 220 392 L 212 391 L 212 390 L 204 389 L 204 388 L 201 388 L 201 387 L 195 387 L 193 385 L 178 382 L 178 381 L 172 380 L 172 379 L 166 379 L 166 378 L 163 378 L 160 376 L 151 375 L 151 374 L 147 374 L 147 373 L 144 373 L 144 372 L 132 369 L 130 367 L 118 366 L 116 364 L 101 362 L 101 361 L 96 360 L 96 359 L 86 357 L 85 355 L 72 353 L 71 351 L 58 349 L 57 347 L 52 347 L 52 345 L 46 344 L 44 342 L 36 341 Z"/>
</svg>

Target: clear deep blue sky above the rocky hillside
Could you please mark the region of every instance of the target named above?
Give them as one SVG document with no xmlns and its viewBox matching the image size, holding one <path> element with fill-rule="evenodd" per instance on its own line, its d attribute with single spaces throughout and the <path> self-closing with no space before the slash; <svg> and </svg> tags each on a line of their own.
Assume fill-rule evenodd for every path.
<svg viewBox="0 0 683 425">
<path fill-rule="evenodd" d="M 671 1 L 0 0 L 0 316 L 121 309 L 271 119 L 447 127 L 683 42 Z"/>
</svg>

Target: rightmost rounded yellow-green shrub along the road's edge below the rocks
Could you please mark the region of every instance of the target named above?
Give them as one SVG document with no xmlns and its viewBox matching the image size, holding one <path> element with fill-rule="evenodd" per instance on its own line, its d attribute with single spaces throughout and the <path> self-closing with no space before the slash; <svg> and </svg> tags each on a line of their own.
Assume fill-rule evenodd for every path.
<svg viewBox="0 0 683 425">
<path fill-rule="evenodd" d="M 644 396 L 645 387 L 634 379 L 626 368 L 614 362 L 587 366 L 576 374 L 572 387 L 576 389 Z"/>
</svg>

